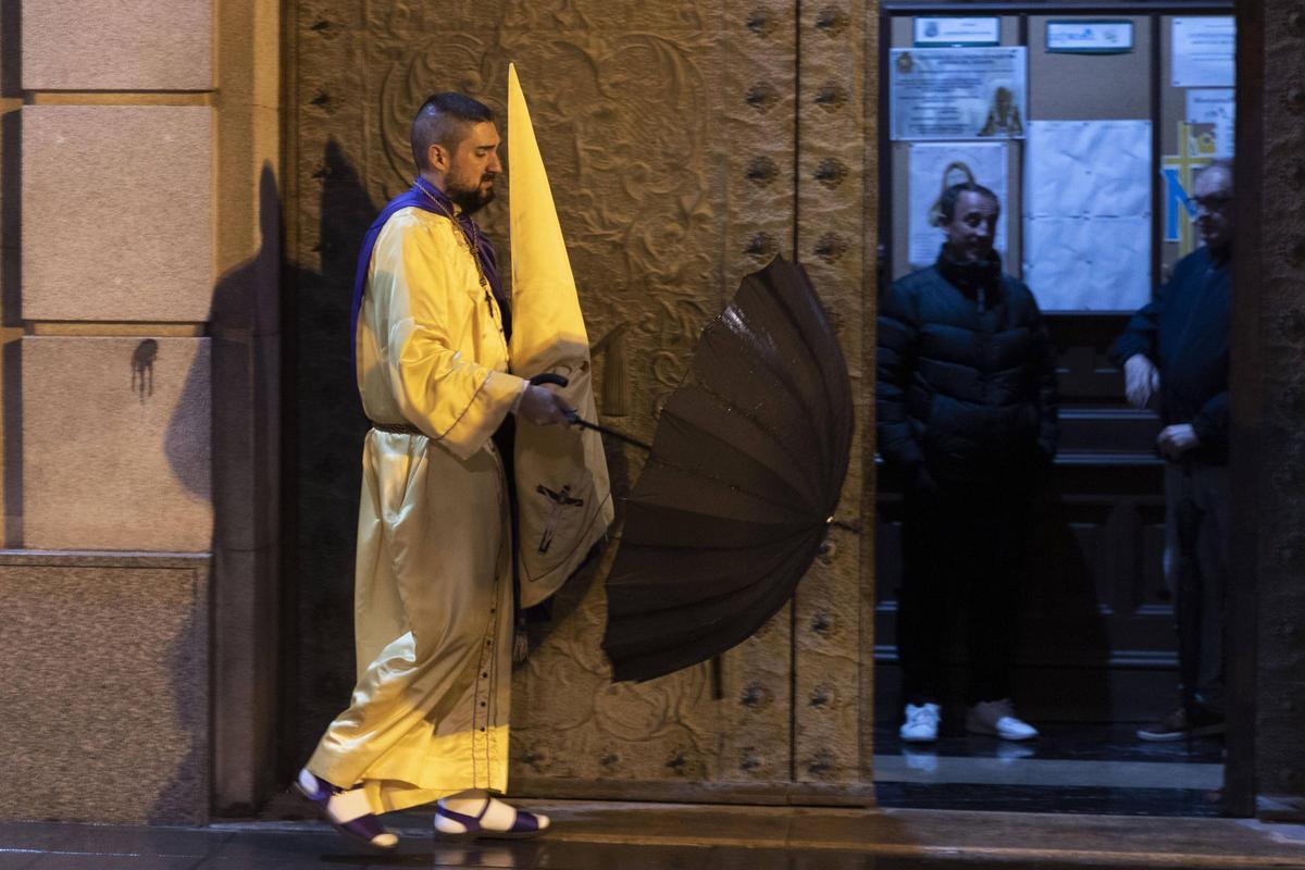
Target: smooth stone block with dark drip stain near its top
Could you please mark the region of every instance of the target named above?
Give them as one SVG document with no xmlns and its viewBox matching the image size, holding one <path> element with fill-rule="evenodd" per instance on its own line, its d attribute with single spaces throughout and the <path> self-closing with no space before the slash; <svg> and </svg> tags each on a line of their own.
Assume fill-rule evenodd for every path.
<svg viewBox="0 0 1305 870">
<path fill-rule="evenodd" d="M 207 552 L 204 338 L 22 339 L 23 545 Z"/>
</svg>

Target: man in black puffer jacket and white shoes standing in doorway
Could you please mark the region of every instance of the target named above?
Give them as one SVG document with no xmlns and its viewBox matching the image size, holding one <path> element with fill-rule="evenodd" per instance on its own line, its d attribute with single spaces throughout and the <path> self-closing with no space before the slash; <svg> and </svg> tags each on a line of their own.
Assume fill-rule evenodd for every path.
<svg viewBox="0 0 1305 870">
<path fill-rule="evenodd" d="M 880 301 L 878 449 L 906 481 L 898 652 L 902 740 L 938 736 L 949 605 L 963 608 L 971 680 L 966 728 L 1037 730 L 1010 700 L 1011 626 L 1030 509 L 1056 455 L 1056 353 L 1037 303 L 993 250 L 1001 205 L 977 184 L 938 203 L 936 265 Z"/>
</svg>

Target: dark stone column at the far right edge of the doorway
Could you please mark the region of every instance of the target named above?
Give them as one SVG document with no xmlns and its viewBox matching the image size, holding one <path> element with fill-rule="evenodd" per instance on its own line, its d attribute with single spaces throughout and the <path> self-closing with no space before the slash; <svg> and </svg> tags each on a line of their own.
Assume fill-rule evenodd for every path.
<svg viewBox="0 0 1305 870">
<path fill-rule="evenodd" d="M 1238 4 L 1229 809 L 1305 818 L 1305 7 Z"/>
</svg>

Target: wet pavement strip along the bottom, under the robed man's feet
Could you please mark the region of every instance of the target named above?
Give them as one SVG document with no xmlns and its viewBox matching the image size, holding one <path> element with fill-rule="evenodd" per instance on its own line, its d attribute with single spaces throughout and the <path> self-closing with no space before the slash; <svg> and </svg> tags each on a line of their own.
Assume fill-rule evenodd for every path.
<svg viewBox="0 0 1305 870">
<path fill-rule="evenodd" d="M 1235 819 L 538 802 L 538 840 L 436 841 L 399 814 L 398 849 L 373 853 L 317 822 L 206 828 L 0 824 L 0 870 L 946 870 L 962 867 L 1305 867 L 1305 827 Z"/>
</svg>

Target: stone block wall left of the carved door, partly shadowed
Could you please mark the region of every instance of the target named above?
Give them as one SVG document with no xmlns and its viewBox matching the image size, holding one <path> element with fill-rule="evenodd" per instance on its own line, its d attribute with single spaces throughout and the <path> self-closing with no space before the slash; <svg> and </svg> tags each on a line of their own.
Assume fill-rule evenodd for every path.
<svg viewBox="0 0 1305 870">
<path fill-rule="evenodd" d="M 271 767 L 281 34 L 221 7 L 0 7 L 4 818 Z"/>
</svg>

